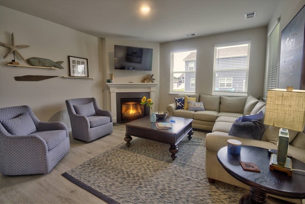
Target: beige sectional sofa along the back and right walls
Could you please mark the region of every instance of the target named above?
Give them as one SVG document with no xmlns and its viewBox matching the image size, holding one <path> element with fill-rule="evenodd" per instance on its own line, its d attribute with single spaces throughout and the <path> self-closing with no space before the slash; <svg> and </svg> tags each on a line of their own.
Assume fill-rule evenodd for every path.
<svg viewBox="0 0 305 204">
<path fill-rule="evenodd" d="M 184 95 L 177 95 L 177 98 Z M 245 137 L 232 136 L 229 132 L 235 120 L 243 115 L 257 114 L 265 112 L 266 103 L 258 99 L 249 97 L 224 97 L 224 96 L 205 96 L 191 95 L 196 97 L 197 102 L 203 102 L 206 110 L 189 111 L 188 109 L 176 109 L 176 104 L 167 106 L 169 116 L 193 118 L 192 126 L 194 129 L 208 130 L 206 136 L 206 174 L 210 183 L 219 180 L 234 186 L 249 189 L 249 186 L 239 182 L 228 174 L 217 160 L 217 152 L 227 146 L 228 139 L 235 139 L 242 142 L 242 145 L 262 147 L 265 149 L 277 149 L 279 128 L 265 126 L 261 140 L 254 140 Z M 297 132 L 289 130 L 289 150 L 288 153 L 305 163 L 305 130 Z M 281 198 L 294 203 L 300 200 Z M 304 203 L 305 200 L 303 200 Z"/>
</svg>

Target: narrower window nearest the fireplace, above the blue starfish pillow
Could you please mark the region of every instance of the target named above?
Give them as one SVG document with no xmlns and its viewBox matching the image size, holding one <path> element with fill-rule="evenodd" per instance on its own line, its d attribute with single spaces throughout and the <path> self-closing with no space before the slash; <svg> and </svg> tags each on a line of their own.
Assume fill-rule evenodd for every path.
<svg viewBox="0 0 305 204">
<path fill-rule="evenodd" d="M 170 92 L 195 92 L 196 50 L 170 53 Z"/>
</svg>

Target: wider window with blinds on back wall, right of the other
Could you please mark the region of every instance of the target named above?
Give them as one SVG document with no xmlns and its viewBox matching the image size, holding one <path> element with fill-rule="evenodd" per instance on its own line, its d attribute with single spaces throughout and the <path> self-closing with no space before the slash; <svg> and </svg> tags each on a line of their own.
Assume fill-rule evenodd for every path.
<svg viewBox="0 0 305 204">
<path fill-rule="evenodd" d="M 247 96 L 250 43 L 214 48 L 213 95 Z"/>
</svg>

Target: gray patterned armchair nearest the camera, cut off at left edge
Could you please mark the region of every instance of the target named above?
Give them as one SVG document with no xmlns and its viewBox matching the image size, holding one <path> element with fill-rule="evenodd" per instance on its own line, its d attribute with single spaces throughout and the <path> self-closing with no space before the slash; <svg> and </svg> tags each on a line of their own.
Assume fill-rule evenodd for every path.
<svg viewBox="0 0 305 204">
<path fill-rule="evenodd" d="M 48 173 L 69 149 L 64 123 L 42 122 L 27 105 L 0 108 L 0 172 L 4 175 Z"/>
</svg>

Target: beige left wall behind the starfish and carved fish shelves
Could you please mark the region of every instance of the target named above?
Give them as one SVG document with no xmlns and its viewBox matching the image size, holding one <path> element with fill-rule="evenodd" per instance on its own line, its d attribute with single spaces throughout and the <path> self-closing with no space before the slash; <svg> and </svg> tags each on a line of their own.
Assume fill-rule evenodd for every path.
<svg viewBox="0 0 305 204">
<path fill-rule="evenodd" d="M 29 105 L 42 121 L 62 121 L 70 127 L 66 99 L 95 97 L 101 104 L 103 79 L 99 65 L 98 38 L 72 30 L 41 18 L 0 6 L 0 42 L 28 45 L 18 50 L 21 55 L 64 61 L 64 69 L 49 70 L 31 67 L 12 67 L 13 54 L 3 59 L 9 51 L 0 46 L 0 107 Z M 68 56 L 88 59 L 89 77 L 95 79 L 65 79 L 69 76 Z M 16 55 L 15 55 L 16 56 Z M 30 65 L 16 56 L 20 65 Z M 58 76 L 42 81 L 15 81 L 15 76 Z M 66 119 L 63 119 L 63 115 Z"/>
</svg>

